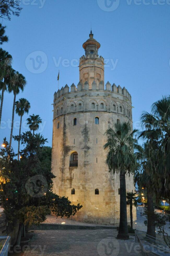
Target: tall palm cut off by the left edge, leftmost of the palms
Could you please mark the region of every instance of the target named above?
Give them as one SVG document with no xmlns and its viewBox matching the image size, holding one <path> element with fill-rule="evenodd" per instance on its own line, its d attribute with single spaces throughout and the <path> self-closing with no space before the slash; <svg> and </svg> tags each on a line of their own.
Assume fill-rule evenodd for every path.
<svg viewBox="0 0 170 256">
<path fill-rule="evenodd" d="M 4 91 L 7 91 L 9 83 L 10 72 L 11 72 L 12 56 L 0 48 L 0 90 L 2 90 L 1 107 L 0 107 L 0 125 L 2 117 L 2 106 L 4 99 Z"/>
</svg>

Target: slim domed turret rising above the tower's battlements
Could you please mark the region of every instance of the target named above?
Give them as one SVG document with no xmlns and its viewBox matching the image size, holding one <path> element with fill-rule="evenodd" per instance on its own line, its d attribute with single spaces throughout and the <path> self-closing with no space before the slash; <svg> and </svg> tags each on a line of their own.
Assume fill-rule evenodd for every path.
<svg viewBox="0 0 170 256">
<path fill-rule="evenodd" d="M 80 58 L 80 83 L 83 89 L 85 83 L 88 83 L 89 89 L 92 89 L 93 82 L 96 83 L 97 89 L 99 89 L 99 84 L 104 89 L 104 59 L 98 55 L 100 44 L 93 38 L 92 31 L 89 37 L 83 44 L 85 55 Z"/>
</svg>

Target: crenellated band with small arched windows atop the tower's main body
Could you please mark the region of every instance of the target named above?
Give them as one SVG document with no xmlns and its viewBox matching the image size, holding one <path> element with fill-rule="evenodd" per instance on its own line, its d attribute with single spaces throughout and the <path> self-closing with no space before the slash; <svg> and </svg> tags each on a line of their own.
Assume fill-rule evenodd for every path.
<svg viewBox="0 0 170 256">
<path fill-rule="evenodd" d="M 121 88 L 120 85 L 111 85 L 107 82 L 104 89 L 103 81 L 99 83 L 99 89 L 96 87 L 97 84 L 93 81 L 92 89 L 89 89 L 89 83 L 86 81 L 84 86 L 79 82 L 77 87 L 73 83 L 69 88 L 66 84 L 64 88 L 55 92 L 54 119 L 74 112 L 104 111 L 132 120 L 132 99 L 125 87 Z"/>
</svg>

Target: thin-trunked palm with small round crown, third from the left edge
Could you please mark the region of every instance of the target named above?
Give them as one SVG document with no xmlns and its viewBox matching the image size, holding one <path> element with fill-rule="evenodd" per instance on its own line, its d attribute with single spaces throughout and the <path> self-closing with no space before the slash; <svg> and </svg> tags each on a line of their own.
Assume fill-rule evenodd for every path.
<svg viewBox="0 0 170 256">
<path fill-rule="evenodd" d="M 25 98 L 19 99 L 19 101 L 15 102 L 15 112 L 20 117 L 20 130 L 19 130 L 19 141 L 18 141 L 18 160 L 19 160 L 19 152 L 20 152 L 20 136 L 21 136 L 21 123 L 22 123 L 22 117 L 24 113 L 29 112 L 30 109 L 30 102 L 27 101 Z"/>
</svg>

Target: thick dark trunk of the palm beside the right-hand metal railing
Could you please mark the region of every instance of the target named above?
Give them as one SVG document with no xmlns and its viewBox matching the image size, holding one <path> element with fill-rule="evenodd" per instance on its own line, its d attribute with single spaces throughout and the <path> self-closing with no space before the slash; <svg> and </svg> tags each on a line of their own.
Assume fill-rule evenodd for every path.
<svg viewBox="0 0 170 256">
<path fill-rule="evenodd" d="M 154 224 L 154 202 L 151 191 L 147 188 L 147 214 L 148 214 L 148 225 L 147 235 L 156 237 L 155 224 Z"/>
</svg>

